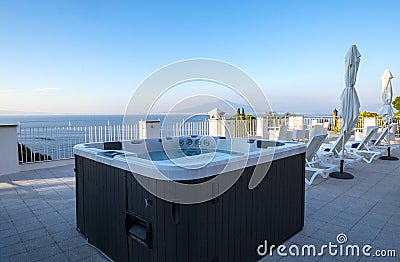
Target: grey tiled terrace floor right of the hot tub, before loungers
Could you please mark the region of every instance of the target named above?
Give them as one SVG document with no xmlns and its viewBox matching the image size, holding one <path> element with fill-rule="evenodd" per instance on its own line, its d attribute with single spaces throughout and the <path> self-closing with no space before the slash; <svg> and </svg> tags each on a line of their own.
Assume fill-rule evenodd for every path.
<svg viewBox="0 0 400 262">
<path fill-rule="evenodd" d="M 393 151 L 392 155 L 399 157 L 400 150 Z M 371 164 L 362 161 L 345 171 L 355 178 L 338 180 L 319 177 L 312 186 L 306 187 L 304 229 L 285 245 L 301 247 L 304 244 L 314 244 L 319 248 L 329 241 L 338 244 L 337 235 L 344 233 L 347 242 L 343 246 L 348 244 L 362 247 L 368 244 L 372 246 L 371 254 L 378 249 L 394 249 L 396 257 L 378 260 L 400 261 L 400 161 L 378 159 Z M 369 261 L 377 257 L 325 255 L 296 259 Z M 274 257 L 272 260 L 290 261 L 293 257 Z"/>
</svg>

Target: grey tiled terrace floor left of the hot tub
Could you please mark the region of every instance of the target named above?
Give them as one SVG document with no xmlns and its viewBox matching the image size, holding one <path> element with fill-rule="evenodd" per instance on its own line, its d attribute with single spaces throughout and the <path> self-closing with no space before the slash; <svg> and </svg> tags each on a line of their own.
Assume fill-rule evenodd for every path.
<svg viewBox="0 0 400 262">
<path fill-rule="evenodd" d="M 72 165 L 0 176 L 0 261 L 106 260 L 75 228 Z"/>
</svg>

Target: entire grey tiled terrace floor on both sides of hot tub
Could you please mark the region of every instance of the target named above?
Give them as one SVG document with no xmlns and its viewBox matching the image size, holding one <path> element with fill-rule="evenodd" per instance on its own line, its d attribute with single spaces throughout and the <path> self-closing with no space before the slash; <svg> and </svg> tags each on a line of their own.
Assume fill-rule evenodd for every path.
<svg viewBox="0 0 400 262">
<path fill-rule="evenodd" d="M 399 156 L 400 150 L 394 155 Z M 317 179 L 306 190 L 304 229 L 285 244 L 332 242 L 395 249 L 400 261 L 400 161 L 357 163 L 353 180 Z M 104 261 L 75 230 L 73 166 L 0 176 L 0 261 Z M 367 257 L 297 257 L 307 261 L 364 261 Z M 295 260 L 276 252 L 267 261 Z"/>
</svg>

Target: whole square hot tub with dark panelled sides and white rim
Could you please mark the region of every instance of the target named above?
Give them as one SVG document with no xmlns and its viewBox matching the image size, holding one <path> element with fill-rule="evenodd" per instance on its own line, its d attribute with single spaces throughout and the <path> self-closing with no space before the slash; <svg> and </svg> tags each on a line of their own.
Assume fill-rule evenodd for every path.
<svg viewBox="0 0 400 262">
<path fill-rule="evenodd" d="M 185 136 L 74 154 L 77 228 L 116 261 L 256 261 L 304 225 L 303 143 Z"/>
</svg>

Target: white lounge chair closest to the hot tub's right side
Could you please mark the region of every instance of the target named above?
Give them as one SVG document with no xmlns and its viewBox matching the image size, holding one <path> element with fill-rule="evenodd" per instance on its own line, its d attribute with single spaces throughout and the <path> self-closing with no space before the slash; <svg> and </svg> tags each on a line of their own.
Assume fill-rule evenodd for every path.
<svg viewBox="0 0 400 262">
<path fill-rule="evenodd" d="M 307 185 L 311 185 L 316 178 L 316 176 L 320 175 L 323 178 L 327 178 L 329 173 L 338 170 L 335 165 L 324 163 L 318 157 L 317 152 L 321 147 L 322 143 L 324 143 L 327 134 L 319 134 L 315 135 L 311 138 L 307 143 L 307 151 L 306 151 L 306 171 L 313 172 L 310 179 L 305 178 L 305 182 Z"/>
</svg>

